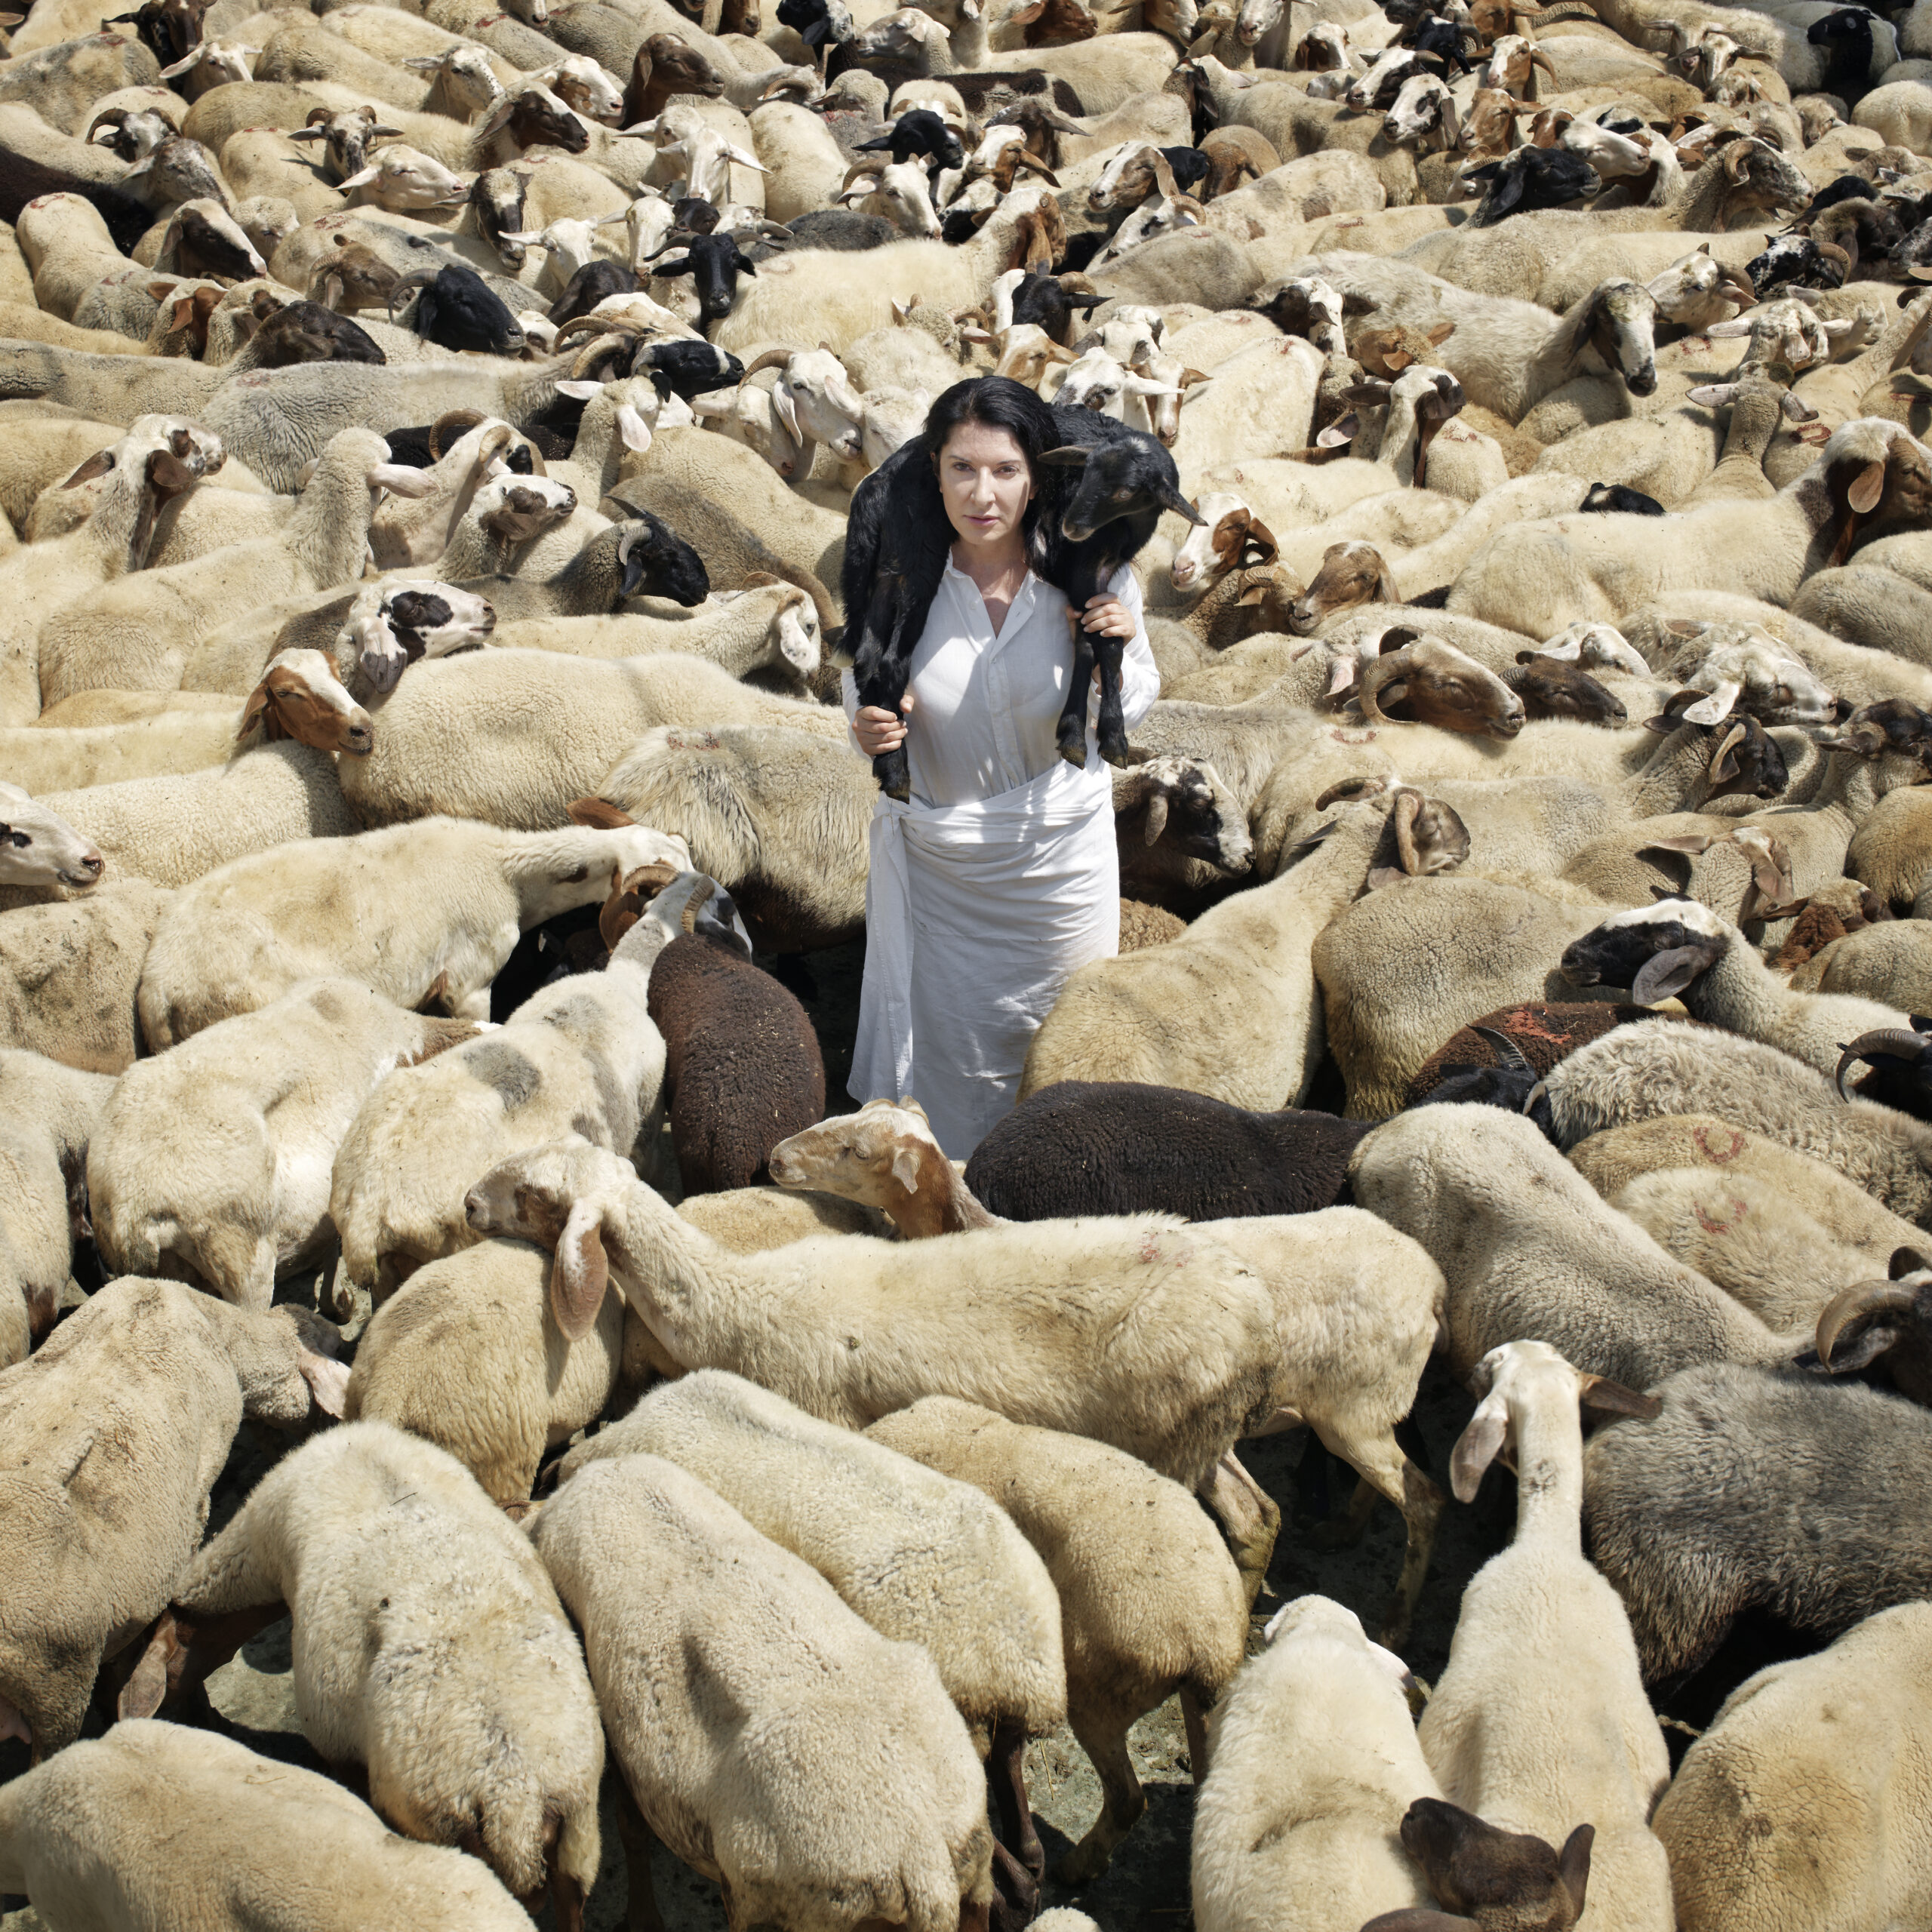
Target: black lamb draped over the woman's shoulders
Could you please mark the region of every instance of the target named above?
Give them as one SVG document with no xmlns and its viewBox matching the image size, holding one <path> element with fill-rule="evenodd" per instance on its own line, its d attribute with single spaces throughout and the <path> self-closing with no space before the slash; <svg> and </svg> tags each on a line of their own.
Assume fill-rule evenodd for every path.
<svg viewBox="0 0 1932 1932">
<path fill-rule="evenodd" d="M 1055 408 L 1053 427 L 1063 440 L 1045 452 L 1045 473 L 1037 479 L 1043 574 L 1063 585 L 1078 616 L 1140 553 L 1163 510 L 1190 524 L 1202 518 L 1180 495 L 1175 460 L 1153 437 L 1092 410 Z M 858 701 L 896 713 L 952 541 L 922 442 L 908 442 L 860 483 L 846 531 L 840 583 L 846 624 L 858 624 L 850 653 Z M 1109 765 L 1130 761 L 1121 715 L 1122 655 L 1121 638 L 1095 638 L 1074 624 L 1074 670 L 1057 732 L 1061 757 L 1070 765 L 1086 763 L 1086 701 L 1095 667 L 1101 757 Z M 887 796 L 912 796 L 904 746 L 881 752 L 871 771 Z"/>
</svg>

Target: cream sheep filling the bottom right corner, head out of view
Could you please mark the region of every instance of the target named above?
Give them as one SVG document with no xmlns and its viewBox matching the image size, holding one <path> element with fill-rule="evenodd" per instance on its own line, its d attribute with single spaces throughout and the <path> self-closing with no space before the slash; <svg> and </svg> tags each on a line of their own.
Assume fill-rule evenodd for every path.
<svg viewBox="0 0 1932 1932">
<path fill-rule="evenodd" d="M 1932 1605 L 1899 1604 L 1725 1698 L 1652 1820 L 1683 1932 L 1768 1932 L 1799 1913 L 1820 1928 L 1911 1924 L 1932 1911 L 1924 1861 L 1903 1849 L 1924 1835 L 1928 1656 Z M 1820 1799 L 1832 1857 L 1793 1868 Z M 1737 1818 L 1764 1830 L 1741 1833 Z"/>
</svg>

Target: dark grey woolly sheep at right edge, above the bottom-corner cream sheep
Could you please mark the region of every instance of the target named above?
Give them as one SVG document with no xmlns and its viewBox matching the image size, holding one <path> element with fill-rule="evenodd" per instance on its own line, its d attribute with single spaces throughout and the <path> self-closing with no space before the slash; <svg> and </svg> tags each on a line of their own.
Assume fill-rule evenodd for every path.
<svg viewBox="0 0 1932 1932">
<path fill-rule="evenodd" d="M 1654 1393 L 1663 1412 L 1602 1430 L 1582 1472 L 1590 1549 L 1646 1683 L 1696 1669 L 1752 1607 L 1830 1640 L 1928 1594 L 1926 1410 L 1737 1362 Z"/>
</svg>

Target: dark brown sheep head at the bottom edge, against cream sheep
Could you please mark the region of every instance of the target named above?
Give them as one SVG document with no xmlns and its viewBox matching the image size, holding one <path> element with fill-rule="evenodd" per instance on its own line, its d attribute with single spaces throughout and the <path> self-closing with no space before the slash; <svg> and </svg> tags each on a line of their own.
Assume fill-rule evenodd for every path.
<svg viewBox="0 0 1932 1932">
<path fill-rule="evenodd" d="M 1416 1799 L 1403 1814 L 1403 1851 L 1441 1911 L 1405 1907 L 1362 1932 L 1569 1932 L 1582 1917 L 1594 1841 L 1596 1828 L 1580 1824 L 1557 1851 L 1445 1799 Z"/>
</svg>

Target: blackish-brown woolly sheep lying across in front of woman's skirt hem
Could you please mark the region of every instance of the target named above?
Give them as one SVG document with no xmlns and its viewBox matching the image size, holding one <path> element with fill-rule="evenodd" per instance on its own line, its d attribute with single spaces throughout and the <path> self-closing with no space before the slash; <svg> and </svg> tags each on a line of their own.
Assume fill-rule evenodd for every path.
<svg viewBox="0 0 1932 1932">
<path fill-rule="evenodd" d="M 966 1186 L 1005 1221 L 1312 1213 L 1352 1200 L 1349 1157 L 1372 1124 L 1294 1107 L 1250 1113 L 1130 1080 L 1063 1080 L 980 1142 Z"/>
</svg>

